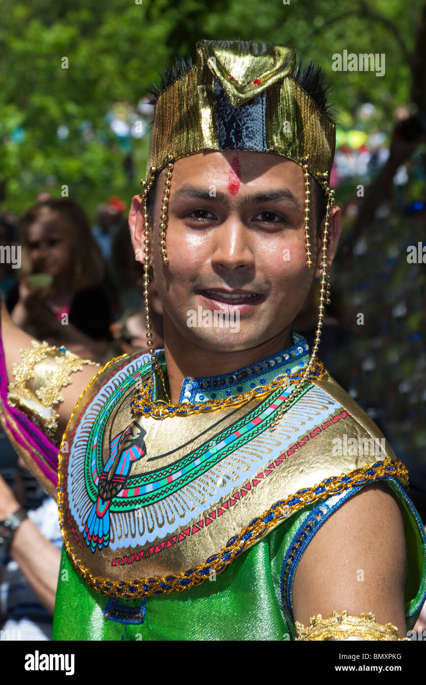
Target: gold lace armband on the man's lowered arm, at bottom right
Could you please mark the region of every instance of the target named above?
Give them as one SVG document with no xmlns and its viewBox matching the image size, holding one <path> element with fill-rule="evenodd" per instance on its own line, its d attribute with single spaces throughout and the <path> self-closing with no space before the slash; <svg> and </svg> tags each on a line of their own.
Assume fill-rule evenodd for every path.
<svg viewBox="0 0 426 685">
<path fill-rule="evenodd" d="M 371 613 L 348 616 L 347 611 L 334 611 L 327 619 L 321 614 L 312 616 L 308 626 L 296 621 L 295 627 L 296 640 L 409 640 L 400 638 L 398 628 L 392 623 L 376 623 L 375 615 Z"/>
</svg>

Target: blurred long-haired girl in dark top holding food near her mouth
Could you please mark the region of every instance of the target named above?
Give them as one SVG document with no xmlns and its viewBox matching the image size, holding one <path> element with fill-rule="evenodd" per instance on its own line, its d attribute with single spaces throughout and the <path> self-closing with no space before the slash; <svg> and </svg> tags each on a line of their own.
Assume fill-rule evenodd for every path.
<svg viewBox="0 0 426 685">
<path fill-rule="evenodd" d="M 47 199 L 21 217 L 22 269 L 7 306 L 21 329 L 102 361 L 110 339 L 104 264 L 88 218 L 72 199 Z"/>
</svg>

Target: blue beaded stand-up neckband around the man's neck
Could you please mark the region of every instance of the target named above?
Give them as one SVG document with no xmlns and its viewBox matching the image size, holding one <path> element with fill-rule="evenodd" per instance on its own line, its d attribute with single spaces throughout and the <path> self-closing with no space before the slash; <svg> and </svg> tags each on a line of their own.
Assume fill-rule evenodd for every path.
<svg viewBox="0 0 426 685">
<path fill-rule="evenodd" d="M 234 373 L 218 376 L 186 376 L 182 383 L 179 404 L 185 402 L 205 402 L 210 399 L 225 399 L 231 395 L 245 393 L 259 385 L 265 385 L 279 373 L 295 373 L 297 369 L 308 364 L 309 345 L 298 333 L 292 333 L 293 345 L 259 362 L 236 369 Z M 158 362 L 163 373 L 166 373 L 164 349 L 157 350 Z M 157 374 L 153 374 L 152 400 L 164 399 L 161 383 Z"/>
</svg>

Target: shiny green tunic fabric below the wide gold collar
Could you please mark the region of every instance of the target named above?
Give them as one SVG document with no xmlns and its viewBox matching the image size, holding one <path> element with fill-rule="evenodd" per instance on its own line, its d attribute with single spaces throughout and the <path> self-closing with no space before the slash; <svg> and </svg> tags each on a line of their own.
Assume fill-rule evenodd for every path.
<svg viewBox="0 0 426 685">
<path fill-rule="evenodd" d="M 391 481 L 388 484 L 403 514 L 408 549 L 405 614 L 410 630 L 425 594 L 426 547 L 414 506 Z M 216 580 L 182 593 L 147 597 L 144 623 L 138 625 L 105 619 L 108 597 L 88 587 L 63 549 L 53 640 L 293 640 L 295 625 L 281 599 L 281 568 L 295 534 L 316 506 L 281 523 Z"/>
</svg>

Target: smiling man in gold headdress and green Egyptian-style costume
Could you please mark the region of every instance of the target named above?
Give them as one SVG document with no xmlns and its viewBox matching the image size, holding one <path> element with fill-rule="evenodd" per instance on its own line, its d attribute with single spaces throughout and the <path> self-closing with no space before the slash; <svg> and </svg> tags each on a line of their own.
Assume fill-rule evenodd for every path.
<svg viewBox="0 0 426 685">
<path fill-rule="evenodd" d="M 129 213 L 151 358 L 93 377 L 36 343 L 21 362 L 30 341 L 3 319 L 3 425 L 51 492 L 53 446 L 31 421 L 58 440 L 71 415 L 56 639 L 401 640 L 416 621 L 425 537 L 406 469 L 316 357 L 340 235 L 326 90 L 278 45 L 202 41 L 166 73 Z M 314 277 L 309 350 L 292 321 Z"/>
</svg>

